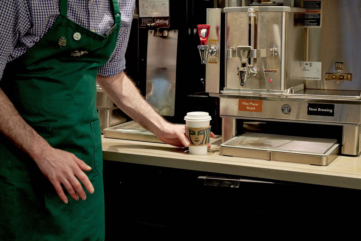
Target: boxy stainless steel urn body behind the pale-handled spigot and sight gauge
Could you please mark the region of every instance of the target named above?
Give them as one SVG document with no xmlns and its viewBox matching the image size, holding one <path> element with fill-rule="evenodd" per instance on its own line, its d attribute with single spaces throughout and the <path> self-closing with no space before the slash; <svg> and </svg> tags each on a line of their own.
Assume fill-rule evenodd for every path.
<svg viewBox="0 0 361 241">
<path fill-rule="evenodd" d="M 225 8 L 226 49 L 247 46 L 248 17 L 251 7 Z M 246 86 L 240 86 L 237 68 L 239 58 L 226 58 L 226 88 L 237 91 L 243 89 L 284 91 L 289 87 L 303 84 L 298 66 L 304 61 L 304 27 L 293 26 L 293 11 L 303 11 L 290 7 L 252 7 L 256 10 L 256 49 L 277 48 L 277 56 L 253 59 L 258 70 L 256 76 L 249 77 Z M 282 12 L 283 11 L 283 12 Z M 287 44 L 286 44 L 287 43 Z M 266 69 L 266 71 L 265 71 Z M 277 70 L 277 71 L 269 71 Z M 298 72 L 297 72 L 298 71 Z"/>
</svg>

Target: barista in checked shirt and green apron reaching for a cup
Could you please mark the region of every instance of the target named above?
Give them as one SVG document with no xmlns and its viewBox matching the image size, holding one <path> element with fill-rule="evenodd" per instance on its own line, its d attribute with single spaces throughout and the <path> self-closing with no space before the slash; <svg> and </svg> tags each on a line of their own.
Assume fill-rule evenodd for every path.
<svg viewBox="0 0 361 241">
<path fill-rule="evenodd" d="M 189 145 L 122 72 L 134 5 L 0 1 L 0 240 L 104 240 L 96 81 L 159 139 Z"/>
</svg>

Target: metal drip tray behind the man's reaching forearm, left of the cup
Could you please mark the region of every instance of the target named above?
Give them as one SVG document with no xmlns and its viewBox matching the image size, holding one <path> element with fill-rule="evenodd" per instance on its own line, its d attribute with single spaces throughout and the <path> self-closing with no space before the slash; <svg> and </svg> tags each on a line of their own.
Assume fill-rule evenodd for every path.
<svg viewBox="0 0 361 241">
<path fill-rule="evenodd" d="M 120 125 L 106 128 L 104 129 L 103 136 L 106 138 L 163 143 L 155 134 L 144 129 L 135 121 L 128 121 Z"/>
</svg>

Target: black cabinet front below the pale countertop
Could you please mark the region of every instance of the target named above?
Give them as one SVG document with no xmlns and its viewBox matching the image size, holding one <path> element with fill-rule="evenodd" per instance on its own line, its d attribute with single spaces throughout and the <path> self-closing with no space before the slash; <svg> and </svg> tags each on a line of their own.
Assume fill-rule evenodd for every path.
<svg viewBox="0 0 361 241">
<path fill-rule="evenodd" d="M 275 180 L 231 188 L 204 185 L 199 176 L 229 177 L 105 160 L 107 237 L 333 235 L 360 225 L 360 190 Z"/>
</svg>

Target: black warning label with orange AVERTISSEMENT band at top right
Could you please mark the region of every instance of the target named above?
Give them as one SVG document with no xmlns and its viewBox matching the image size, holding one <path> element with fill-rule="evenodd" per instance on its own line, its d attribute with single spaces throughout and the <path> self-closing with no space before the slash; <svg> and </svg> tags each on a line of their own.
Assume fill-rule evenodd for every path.
<svg viewBox="0 0 361 241">
<path fill-rule="evenodd" d="M 322 0 L 303 0 L 306 9 L 304 26 L 321 27 Z"/>
</svg>

